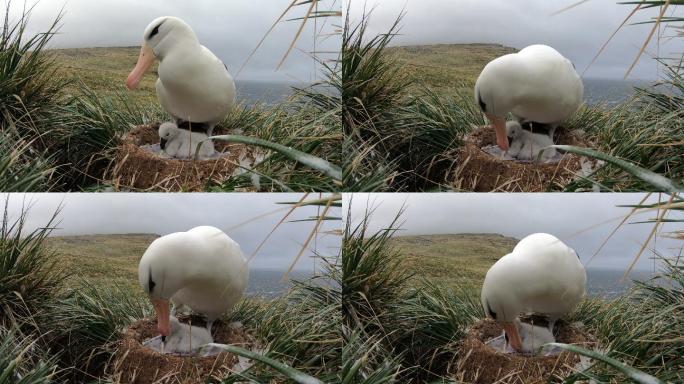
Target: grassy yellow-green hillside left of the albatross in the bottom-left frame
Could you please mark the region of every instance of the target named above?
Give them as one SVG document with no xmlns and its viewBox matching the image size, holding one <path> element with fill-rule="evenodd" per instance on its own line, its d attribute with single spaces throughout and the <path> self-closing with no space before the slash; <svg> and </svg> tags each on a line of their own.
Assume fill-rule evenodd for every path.
<svg viewBox="0 0 684 384">
<path fill-rule="evenodd" d="M 59 260 L 57 267 L 70 273 L 69 285 L 80 279 L 101 286 L 121 284 L 139 291 L 138 261 L 153 234 L 87 235 L 48 238 Z"/>
</svg>

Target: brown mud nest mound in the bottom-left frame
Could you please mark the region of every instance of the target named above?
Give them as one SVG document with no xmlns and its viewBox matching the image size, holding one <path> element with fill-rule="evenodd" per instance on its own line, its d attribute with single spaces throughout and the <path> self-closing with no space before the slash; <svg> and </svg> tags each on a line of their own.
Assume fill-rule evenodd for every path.
<svg viewBox="0 0 684 384">
<path fill-rule="evenodd" d="M 194 322 L 193 325 L 201 326 Z M 139 320 L 126 330 L 117 346 L 114 372 L 111 372 L 118 383 L 205 383 L 227 376 L 239 361 L 236 355 L 228 352 L 208 357 L 162 355 L 142 345 L 143 341 L 158 334 L 157 323 L 151 319 Z M 246 349 L 256 343 L 244 328 L 232 329 L 224 322 L 216 322 L 212 334 L 215 343 Z"/>
</svg>

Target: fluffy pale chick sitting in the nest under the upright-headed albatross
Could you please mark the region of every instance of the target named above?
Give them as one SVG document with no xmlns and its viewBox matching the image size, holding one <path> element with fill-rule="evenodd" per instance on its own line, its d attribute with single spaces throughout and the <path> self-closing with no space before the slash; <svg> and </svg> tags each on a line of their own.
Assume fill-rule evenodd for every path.
<svg viewBox="0 0 684 384">
<path fill-rule="evenodd" d="M 190 132 L 180 129 L 174 123 L 163 123 L 159 126 L 159 138 L 161 149 L 167 155 L 179 159 L 194 158 L 199 148 L 197 158 L 206 160 L 214 155 L 214 145 L 205 133 Z"/>
</svg>

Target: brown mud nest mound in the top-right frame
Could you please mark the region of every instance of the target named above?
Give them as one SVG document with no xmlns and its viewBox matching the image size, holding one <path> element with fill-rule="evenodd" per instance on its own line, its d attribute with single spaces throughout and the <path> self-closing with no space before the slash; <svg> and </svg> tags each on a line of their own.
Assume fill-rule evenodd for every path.
<svg viewBox="0 0 684 384">
<path fill-rule="evenodd" d="M 556 130 L 556 144 L 586 146 L 587 143 L 567 128 Z M 580 157 L 564 153 L 557 163 L 521 163 L 493 156 L 483 147 L 496 145 L 496 134 L 490 127 L 474 129 L 458 151 L 458 168 L 454 186 L 475 192 L 543 192 L 552 185 L 566 185 L 582 169 Z"/>
</svg>

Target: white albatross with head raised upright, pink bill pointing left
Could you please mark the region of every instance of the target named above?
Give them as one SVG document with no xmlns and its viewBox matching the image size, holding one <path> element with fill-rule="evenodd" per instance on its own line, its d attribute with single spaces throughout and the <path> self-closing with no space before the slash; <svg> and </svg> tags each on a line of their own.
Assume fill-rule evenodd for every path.
<svg viewBox="0 0 684 384">
<path fill-rule="evenodd" d="M 147 26 L 140 57 L 126 86 L 135 89 L 159 59 L 157 98 L 180 128 L 211 136 L 235 106 L 235 82 L 228 68 L 200 44 L 195 32 L 177 17 L 164 16 Z"/>
</svg>

